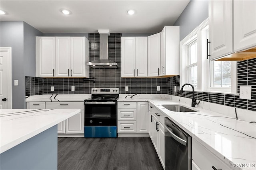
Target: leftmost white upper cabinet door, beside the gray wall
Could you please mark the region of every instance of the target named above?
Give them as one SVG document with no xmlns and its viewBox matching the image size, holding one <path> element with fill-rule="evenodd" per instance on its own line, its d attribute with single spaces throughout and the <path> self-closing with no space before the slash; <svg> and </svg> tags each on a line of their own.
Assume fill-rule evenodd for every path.
<svg viewBox="0 0 256 170">
<path fill-rule="evenodd" d="M 55 37 L 36 37 L 37 69 L 38 77 L 54 77 L 56 67 L 56 40 Z"/>
</svg>

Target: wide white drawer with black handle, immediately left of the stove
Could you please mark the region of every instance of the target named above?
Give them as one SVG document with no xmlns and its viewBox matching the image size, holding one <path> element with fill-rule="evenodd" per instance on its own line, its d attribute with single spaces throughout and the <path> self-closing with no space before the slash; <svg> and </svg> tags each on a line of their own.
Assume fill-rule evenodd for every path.
<svg viewBox="0 0 256 170">
<path fill-rule="evenodd" d="M 84 109 L 84 102 L 46 102 L 46 109 Z"/>
</svg>

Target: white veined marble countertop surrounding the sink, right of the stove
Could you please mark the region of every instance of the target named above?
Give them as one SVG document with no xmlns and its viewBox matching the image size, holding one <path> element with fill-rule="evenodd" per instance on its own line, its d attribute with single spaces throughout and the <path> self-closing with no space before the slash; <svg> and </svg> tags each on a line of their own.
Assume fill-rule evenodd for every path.
<svg viewBox="0 0 256 170">
<path fill-rule="evenodd" d="M 234 169 L 255 169 L 256 124 L 236 119 L 231 115 L 231 111 L 227 111 L 230 113 L 223 115 L 203 109 L 202 103 L 198 107 L 192 108 L 191 102 L 181 103 L 167 98 L 135 97 L 131 99 L 121 97 L 118 101 L 148 101 L 151 106 L 154 105 L 158 111 L 226 162 L 227 165 L 250 164 L 254 167 L 234 167 Z M 174 112 L 162 105 L 183 105 L 190 109 L 196 109 L 197 112 Z M 230 108 L 228 109 L 230 110 Z M 232 108 L 231 110 L 233 111 Z"/>
</svg>

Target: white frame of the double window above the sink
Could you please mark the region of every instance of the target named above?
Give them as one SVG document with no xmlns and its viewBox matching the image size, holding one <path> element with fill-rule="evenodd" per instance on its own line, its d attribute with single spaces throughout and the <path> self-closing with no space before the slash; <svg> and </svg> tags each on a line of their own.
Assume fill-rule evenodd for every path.
<svg viewBox="0 0 256 170">
<path fill-rule="evenodd" d="M 206 34 L 203 34 L 208 29 L 208 18 L 204 20 L 197 28 L 195 28 L 188 36 L 180 41 L 180 88 L 183 84 L 188 83 L 187 71 L 187 55 L 186 47 L 195 38 L 197 39 L 197 83 L 196 91 L 205 91 L 213 93 L 228 93 L 237 94 L 237 62 L 232 61 L 231 67 L 231 89 L 224 87 L 210 87 L 210 60 L 206 59 Z M 204 36 L 205 35 L 205 36 Z M 184 90 L 191 91 L 192 88 L 185 86 Z"/>
</svg>

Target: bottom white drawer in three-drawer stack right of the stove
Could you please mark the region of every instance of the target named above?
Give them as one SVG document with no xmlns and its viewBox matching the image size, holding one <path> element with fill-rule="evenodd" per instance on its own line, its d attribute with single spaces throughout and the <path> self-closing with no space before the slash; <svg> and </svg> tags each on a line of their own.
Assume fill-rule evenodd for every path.
<svg viewBox="0 0 256 170">
<path fill-rule="evenodd" d="M 136 133 L 136 121 L 118 121 L 118 133 Z"/>
</svg>

